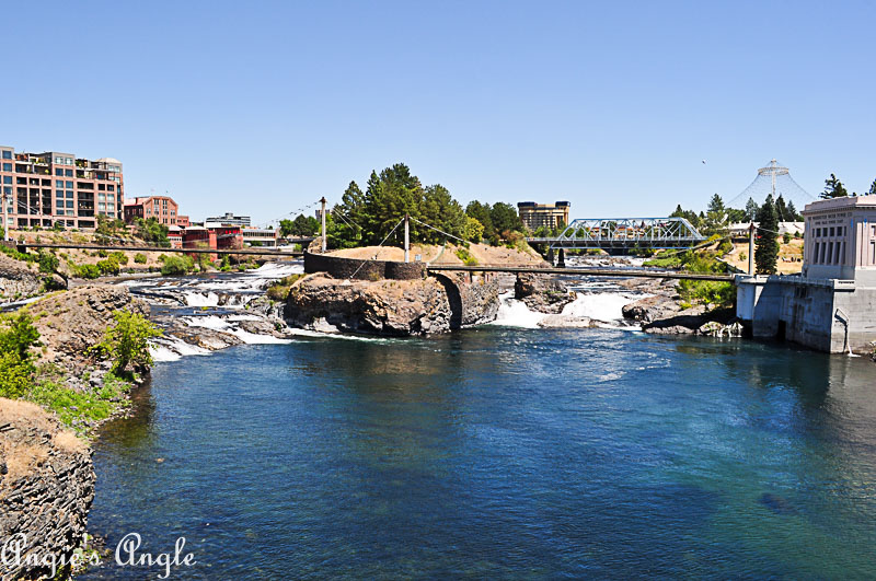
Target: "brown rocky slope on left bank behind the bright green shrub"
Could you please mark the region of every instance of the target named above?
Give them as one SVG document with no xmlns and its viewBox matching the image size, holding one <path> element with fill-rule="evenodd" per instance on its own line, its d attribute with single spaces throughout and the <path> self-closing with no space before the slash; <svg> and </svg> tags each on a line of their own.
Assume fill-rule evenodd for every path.
<svg viewBox="0 0 876 581">
<path fill-rule="evenodd" d="M 28 310 L 44 346 L 41 360 L 81 374 L 92 359 L 88 349 L 101 341 L 119 309 L 149 314 L 149 305 L 124 286 L 89 284 L 36 301 Z"/>
</svg>

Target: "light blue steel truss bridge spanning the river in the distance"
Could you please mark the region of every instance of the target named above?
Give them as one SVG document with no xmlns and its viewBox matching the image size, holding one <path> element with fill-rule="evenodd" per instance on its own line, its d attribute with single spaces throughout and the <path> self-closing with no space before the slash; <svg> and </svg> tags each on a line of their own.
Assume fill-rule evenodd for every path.
<svg viewBox="0 0 876 581">
<path fill-rule="evenodd" d="M 527 239 L 551 248 L 689 248 L 706 239 L 684 218 L 578 218 L 557 237 Z"/>
</svg>

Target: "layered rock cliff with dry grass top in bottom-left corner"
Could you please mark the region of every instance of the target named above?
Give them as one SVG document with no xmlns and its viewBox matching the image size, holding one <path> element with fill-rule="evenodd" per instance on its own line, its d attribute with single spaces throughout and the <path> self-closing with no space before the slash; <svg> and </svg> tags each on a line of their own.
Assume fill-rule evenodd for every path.
<svg viewBox="0 0 876 581">
<path fill-rule="evenodd" d="M 0 398 L 0 539 L 7 553 L 0 579 L 36 579 L 49 568 L 25 555 L 67 562 L 85 533 L 94 499 L 94 468 L 88 446 L 42 408 Z"/>
</svg>

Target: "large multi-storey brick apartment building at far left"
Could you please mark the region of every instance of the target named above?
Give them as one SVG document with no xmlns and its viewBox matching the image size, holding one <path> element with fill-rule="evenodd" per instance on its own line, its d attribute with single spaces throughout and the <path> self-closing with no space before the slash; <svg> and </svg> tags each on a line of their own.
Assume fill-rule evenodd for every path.
<svg viewBox="0 0 876 581">
<path fill-rule="evenodd" d="M 122 162 L 91 161 L 72 153 L 16 153 L 0 146 L 0 194 L 4 226 L 93 229 L 97 216 L 122 219 Z"/>
</svg>

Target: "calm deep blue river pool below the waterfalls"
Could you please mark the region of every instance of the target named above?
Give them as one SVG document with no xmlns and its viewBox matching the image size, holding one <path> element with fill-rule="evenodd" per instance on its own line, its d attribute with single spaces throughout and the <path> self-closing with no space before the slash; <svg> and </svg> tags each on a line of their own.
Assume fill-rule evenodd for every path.
<svg viewBox="0 0 876 581">
<path fill-rule="evenodd" d="M 173 579 L 876 577 L 865 358 L 482 327 L 152 375 L 95 443 L 90 528 L 184 536 Z"/>
</svg>

